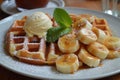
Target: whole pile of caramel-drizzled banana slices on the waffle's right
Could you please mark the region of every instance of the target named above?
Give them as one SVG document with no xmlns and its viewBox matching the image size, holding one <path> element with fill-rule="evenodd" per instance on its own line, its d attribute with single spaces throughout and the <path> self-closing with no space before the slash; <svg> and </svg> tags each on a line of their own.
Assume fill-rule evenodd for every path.
<svg viewBox="0 0 120 80">
<path fill-rule="evenodd" d="M 91 18 L 91 17 L 90 17 Z M 58 47 L 64 54 L 57 58 L 56 68 L 62 73 L 74 73 L 83 65 L 97 67 L 105 59 L 120 57 L 120 38 L 93 23 L 104 25 L 105 19 L 80 18 L 73 22 L 72 32 L 58 40 Z M 108 25 L 104 25 L 108 28 Z"/>
</svg>

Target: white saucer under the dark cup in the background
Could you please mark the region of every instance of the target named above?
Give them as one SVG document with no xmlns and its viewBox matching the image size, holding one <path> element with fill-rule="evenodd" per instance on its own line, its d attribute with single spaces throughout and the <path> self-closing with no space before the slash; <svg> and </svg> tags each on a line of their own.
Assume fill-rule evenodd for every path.
<svg viewBox="0 0 120 80">
<path fill-rule="evenodd" d="M 50 0 L 45 8 L 64 7 L 64 5 L 65 5 L 65 3 L 63 0 Z M 1 10 L 9 15 L 20 12 L 17 10 L 14 0 L 5 0 L 1 4 Z"/>
</svg>

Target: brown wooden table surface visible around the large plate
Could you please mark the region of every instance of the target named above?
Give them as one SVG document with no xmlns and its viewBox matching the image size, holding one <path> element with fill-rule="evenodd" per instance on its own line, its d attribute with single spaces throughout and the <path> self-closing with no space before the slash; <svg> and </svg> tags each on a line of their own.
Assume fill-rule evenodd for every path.
<svg viewBox="0 0 120 80">
<path fill-rule="evenodd" d="M 1 3 L 2 0 L 0 0 Z M 101 0 L 64 0 L 66 7 L 80 7 L 101 11 Z M 89 4 L 89 5 L 88 5 Z M 92 5 L 92 6 L 91 6 Z M 0 19 L 9 16 L 0 10 Z M 0 66 L 0 80 L 38 80 L 26 77 Z M 120 73 L 97 80 L 120 80 Z"/>
</svg>

